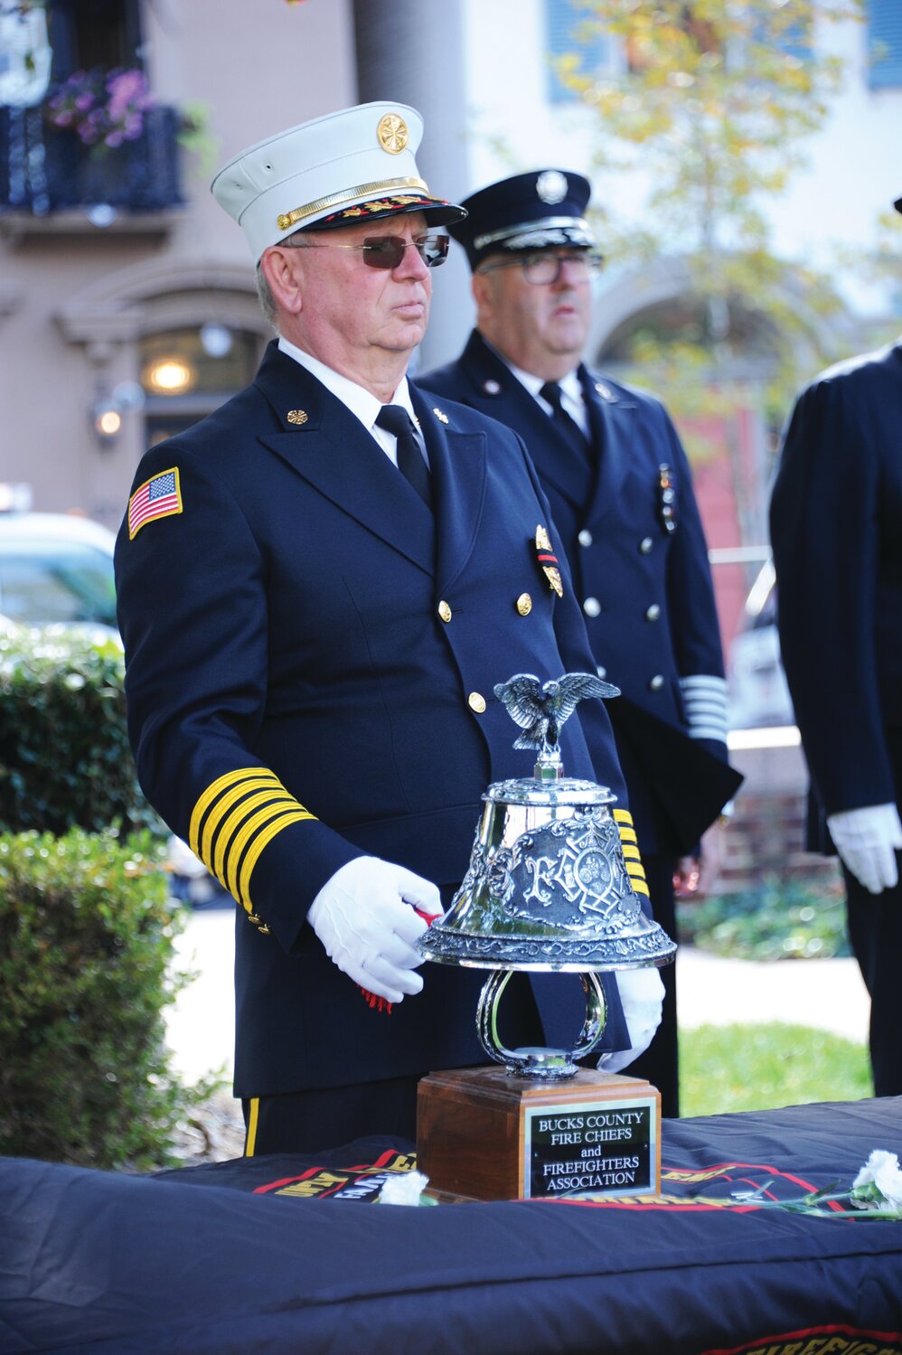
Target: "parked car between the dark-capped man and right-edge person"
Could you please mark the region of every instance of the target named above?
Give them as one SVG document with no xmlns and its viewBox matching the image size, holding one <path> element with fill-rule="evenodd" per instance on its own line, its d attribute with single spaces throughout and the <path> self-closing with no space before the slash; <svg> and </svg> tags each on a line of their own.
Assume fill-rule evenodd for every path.
<svg viewBox="0 0 902 1355">
<path fill-rule="evenodd" d="M 761 565 L 745 600 L 742 625 L 730 645 L 727 721 L 730 729 L 794 725 L 792 699 L 780 661 L 773 562 Z"/>
</svg>

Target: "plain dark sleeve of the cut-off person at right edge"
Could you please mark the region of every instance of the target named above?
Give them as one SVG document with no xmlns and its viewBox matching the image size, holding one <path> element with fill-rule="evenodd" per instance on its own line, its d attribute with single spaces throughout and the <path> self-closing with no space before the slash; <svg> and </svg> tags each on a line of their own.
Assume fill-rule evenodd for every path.
<svg viewBox="0 0 902 1355">
<path fill-rule="evenodd" d="M 864 375 L 802 393 L 771 501 L 783 664 L 828 814 L 895 799 L 875 652 L 879 428 Z"/>
</svg>

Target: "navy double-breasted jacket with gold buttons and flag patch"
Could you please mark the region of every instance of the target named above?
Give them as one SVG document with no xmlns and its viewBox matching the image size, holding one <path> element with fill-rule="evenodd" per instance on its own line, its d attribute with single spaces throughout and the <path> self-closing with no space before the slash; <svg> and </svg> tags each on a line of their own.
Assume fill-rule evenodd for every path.
<svg viewBox="0 0 902 1355">
<path fill-rule="evenodd" d="M 238 1096 L 485 1062 L 485 974 L 428 965 L 421 995 L 372 1011 L 306 911 L 362 854 L 460 881 L 488 783 L 532 767 L 494 684 L 592 669 L 566 566 L 558 599 L 536 560 L 549 505 L 523 444 L 410 389 L 435 518 L 271 344 L 253 385 L 146 454 L 131 516 L 160 489 L 177 501 L 154 516 L 153 500 L 137 530 L 127 515 L 116 545 L 141 783 L 242 905 Z M 626 806 L 600 702 L 561 745 L 567 774 Z M 600 1047 L 627 1043 L 614 993 Z"/>
</svg>

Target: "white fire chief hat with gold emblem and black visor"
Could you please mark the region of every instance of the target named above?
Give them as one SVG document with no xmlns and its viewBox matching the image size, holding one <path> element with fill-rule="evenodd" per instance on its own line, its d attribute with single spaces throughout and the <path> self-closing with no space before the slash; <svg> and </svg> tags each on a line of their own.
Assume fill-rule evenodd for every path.
<svg viewBox="0 0 902 1355">
<path fill-rule="evenodd" d="M 414 159 L 423 118 L 404 103 L 362 103 L 302 122 L 225 165 L 213 196 L 238 222 L 255 263 L 295 230 L 326 230 L 404 211 L 429 225 L 466 217 L 429 191 Z"/>
</svg>

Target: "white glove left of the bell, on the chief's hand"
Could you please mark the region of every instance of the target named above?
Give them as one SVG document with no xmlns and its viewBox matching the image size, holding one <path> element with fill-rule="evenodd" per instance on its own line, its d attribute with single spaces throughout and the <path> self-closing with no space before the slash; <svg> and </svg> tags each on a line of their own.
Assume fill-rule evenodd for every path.
<svg viewBox="0 0 902 1355">
<path fill-rule="evenodd" d="M 400 1003 L 423 988 L 413 973 L 423 955 L 413 947 L 428 924 L 410 905 L 431 917 L 442 913 L 439 890 L 428 879 L 378 856 L 356 856 L 325 882 L 307 920 L 343 973 Z"/>
</svg>

